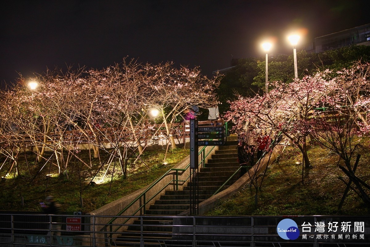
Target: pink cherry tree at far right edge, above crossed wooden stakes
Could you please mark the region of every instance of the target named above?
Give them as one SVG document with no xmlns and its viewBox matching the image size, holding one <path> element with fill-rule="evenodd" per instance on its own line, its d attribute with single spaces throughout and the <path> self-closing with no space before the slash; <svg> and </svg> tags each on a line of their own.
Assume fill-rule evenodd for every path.
<svg viewBox="0 0 370 247">
<path fill-rule="evenodd" d="M 369 153 L 363 141 L 369 138 L 369 63 L 355 63 L 350 69 L 337 72 L 333 78 L 336 90 L 325 97 L 328 111 L 317 112 L 310 121 L 313 136 L 323 147 L 339 156 L 337 167 L 349 178 L 342 181 L 370 207 L 370 186 L 361 175 L 356 175 L 359 153 Z M 358 156 L 359 157 L 359 156 Z M 350 186 L 353 183 L 354 187 Z"/>
</svg>

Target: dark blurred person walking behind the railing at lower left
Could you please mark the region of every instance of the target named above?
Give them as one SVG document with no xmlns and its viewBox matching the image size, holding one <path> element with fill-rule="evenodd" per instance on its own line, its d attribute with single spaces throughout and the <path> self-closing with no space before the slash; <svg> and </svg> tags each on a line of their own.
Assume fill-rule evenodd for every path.
<svg viewBox="0 0 370 247">
<path fill-rule="evenodd" d="M 53 214 L 51 216 L 51 236 L 60 236 L 60 230 L 61 230 L 61 224 L 55 224 L 55 223 L 62 223 L 62 217 L 60 216 L 61 206 L 60 204 L 54 200 L 53 196 L 47 196 L 45 198 L 46 204 L 41 204 L 42 210 L 46 214 Z M 48 233 L 48 235 L 50 232 Z"/>
</svg>

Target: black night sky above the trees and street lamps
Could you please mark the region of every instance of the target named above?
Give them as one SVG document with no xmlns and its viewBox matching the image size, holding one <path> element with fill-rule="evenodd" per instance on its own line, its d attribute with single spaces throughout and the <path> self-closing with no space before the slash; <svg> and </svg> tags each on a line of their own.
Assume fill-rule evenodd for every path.
<svg viewBox="0 0 370 247">
<path fill-rule="evenodd" d="M 102 69 L 126 56 L 199 66 L 211 75 L 229 67 L 232 56 L 263 57 L 263 37 L 275 37 L 273 53 L 289 53 L 289 30 L 306 30 L 303 40 L 309 40 L 370 23 L 367 2 L 1 1 L 0 80 L 55 66 Z"/>
</svg>

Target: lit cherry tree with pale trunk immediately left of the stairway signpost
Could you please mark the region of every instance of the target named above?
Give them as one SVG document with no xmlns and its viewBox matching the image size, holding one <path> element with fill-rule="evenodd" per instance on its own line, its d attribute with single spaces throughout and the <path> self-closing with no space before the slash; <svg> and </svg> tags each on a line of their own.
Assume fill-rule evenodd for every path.
<svg viewBox="0 0 370 247">
<path fill-rule="evenodd" d="M 193 105 L 207 108 L 216 101 L 215 89 L 221 76 L 216 74 L 208 79 L 199 68 L 189 69 L 181 66 L 176 69 L 172 63 L 145 66 L 147 75 L 148 106 L 155 107 L 161 113 L 166 128 L 166 135 L 171 141 L 171 148 L 176 148 L 173 123 L 186 109 Z"/>
</svg>

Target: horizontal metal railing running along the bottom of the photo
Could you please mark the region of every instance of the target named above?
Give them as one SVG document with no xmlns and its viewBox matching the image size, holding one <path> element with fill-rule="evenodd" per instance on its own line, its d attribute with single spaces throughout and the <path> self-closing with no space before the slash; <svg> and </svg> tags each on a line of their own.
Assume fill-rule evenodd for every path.
<svg viewBox="0 0 370 247">
<path fill-rule="evenodd" d="M 152 216 L 120 216 L 122 218 L 139 218 L 130 224 L 132 235 L 115 238 L 110 241 L 111 232 L 104 229 L 102 219 L 111 216 L 78 216 L 82 222 L 61 223 L 61 230 L 49 230 L 50 216 L 44 215 L 46 221 L 27 222 L 24 217 L 33 214 L 0 214 L 0 246 L 222 246 L 222 247 L 275 247 L 275 246 L 369 246 L 370 216 L 164 216 L 162 221 L 173 221 L 173 225 L 154 221 Z M 84 219 L 86 217 L 86 219 Z M 299 235 L 294 240 L 283 239 L 278 231 L 280 221 L 289 218 L 297 225 Z M 91 219 L 91 220 L 90 220 Z M 294 224 L 294 223 L 293 223 Z M 78 226 L 78 231 L 66 230 Z M 345 227 L 342 227 L 342 226 Z M 337 228 L 335 228 L 337 226 Z M 170 228 L 166 233 L 157 233 L 153 229 Z M 291 226 L 279 226 L 284 229 Z M 292 226 L 293 227 L 293 226 Z M 279 230 L 280 231 L 280 230 Z M 135 233 L 136 232 L 136 233 Z M 123 232 L 118 232 L 121 234 Z M 281 234 L 281 233 L 280 233 Z M 52 236 L 50 238 L 50 236 Z"/>
</svg>

